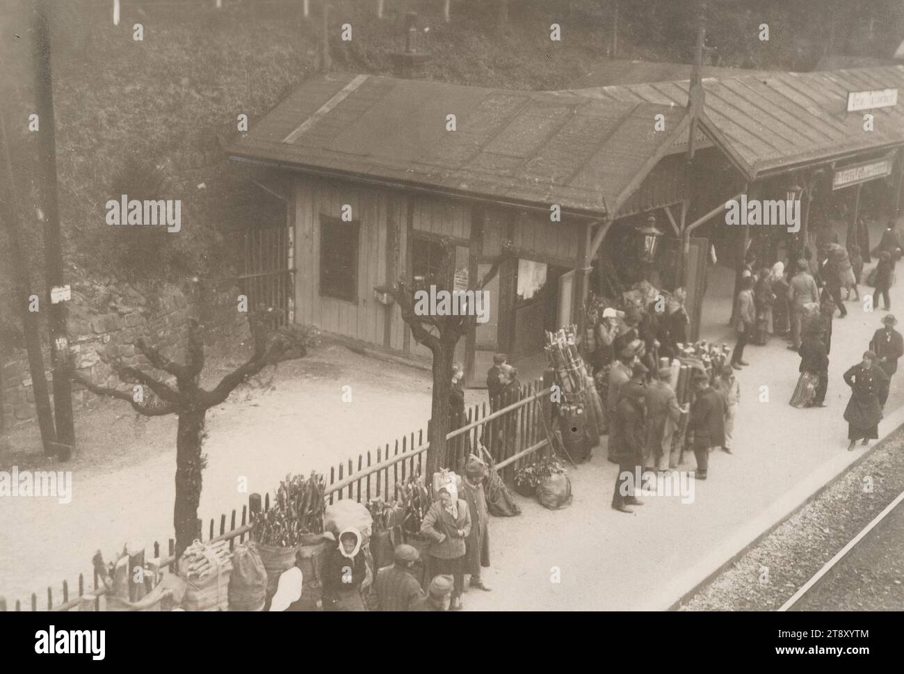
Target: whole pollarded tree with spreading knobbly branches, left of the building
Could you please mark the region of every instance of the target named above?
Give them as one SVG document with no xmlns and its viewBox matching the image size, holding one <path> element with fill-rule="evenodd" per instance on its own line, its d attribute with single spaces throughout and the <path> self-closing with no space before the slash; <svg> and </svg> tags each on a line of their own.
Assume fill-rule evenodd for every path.
<svg viewBox="0 0 904 674">
<path fill-rule="evenodd" d="M 254 352 L 243 365 L 222 378 L 211 390 L 201 387 L 201 371 L 204 366 L 202 326 L 196 318 L 189 322 L 186 362 L 176 363 L 166 357 L 159 348 L 147 344 L 144 338 L 136 341 L 137 349 L 147 357 L 156 369 L 175 377 L 172 385 L 148 375 L 137 367 L 114 364 L 118 378 L 128 384 L 138 384 L 126 391 L 94 384 L 86 375 L 76 372 L 70 361 L 73 381 L 82 384 L 95 394 L 125 400 L 139 414 L 179 417 L 176 432 L 175 504 L 175 554 L 182 555 L 198 536 L 198 504 L 201 500 L 202 472 L 206 459 L 202 454 L 204 417 L 209 409 L 222 403 L 240 384 L 257 375 L 267 365 L 279 361 L 306 356 L 304 335 L 292 328 L 268 331 L 264 320 L 250 315 Z"/>
</svg>

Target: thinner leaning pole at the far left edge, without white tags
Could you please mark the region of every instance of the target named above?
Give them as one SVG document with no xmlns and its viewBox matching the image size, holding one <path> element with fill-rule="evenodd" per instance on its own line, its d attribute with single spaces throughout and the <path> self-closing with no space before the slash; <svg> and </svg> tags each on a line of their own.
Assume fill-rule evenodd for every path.
<svg viewBox="0 0 904 674">
<path fill-rule="evenodd" d="M 44 454 L 52 456 L 56 453 L 56 432 L 53 430 L 53 413 L 51 398 L 47 391 L 47 380 L 44 379 L 44 356 L 41 352 L 41 331 L 38 326 L 38 313 L 29 310 L 29 296 L 32 290 L 31 274 L 28 272 L 28 260 L 22 247 L 19 229 L 19 211 L 15 203 L 15 183 L 13 181 L 13 164 L 9 154 L 9 143 L 6 140 L 6 116 L 0 113 L 0 152 L 3 153 L 3 180 L 0 185 L 3 210 L 0 212 L 6 224 L 6 236 L 9 239 L 10 257 L 14 265 L 15 305 L 22 309 L 22 328 L 25 334 L 25 348 L 28 351 L 28 366 L 32 374 L 32 391 L 34 408 L 38 413 L 38 425 L 41 428 L 41 442 Z M 40 308 L 40 299 L 39 299 Z"/>
</svg>

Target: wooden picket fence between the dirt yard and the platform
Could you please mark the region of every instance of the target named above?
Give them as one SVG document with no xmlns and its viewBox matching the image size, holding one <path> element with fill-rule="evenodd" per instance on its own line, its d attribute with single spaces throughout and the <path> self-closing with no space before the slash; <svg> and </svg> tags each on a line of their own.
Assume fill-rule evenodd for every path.
<svg viewBox="0 0 904 674">
<path fill-rule="evenodd" d="M 492 456 L 496 470 L 504 470 L 504 477 L 513 474 L 527 457 L 534 451 L 546 447 L 547 429 L 550 428 L 550 388 L 544 387 L 540 380 L 524 385 L 518 395 L 504 399 L 506 406 L 487 413 L 486 403 L 474 405 L 467 411 L 467 423 L 447 433 L 447 468 L 463 470 L 469 452 L 479 453 L 478 442 L 485 446 Z M 354 498 L 366 502 L 371 498 L 395 497 L 396 487 L 408 477 L 423 470 L 425 452 L 429 443 L 424 441 L 424 432 L 420 430 L 410 433 L 395 441 L 391 447 L 388 443 L 378 447 L 375 452 L 359 454 L 357 469 L 355 461 L 349 459 L 338 467 L 330 469 L 329 484 L 325 489 L 325 498 L 329 503 L 342 498 Z M 366 463 L 365 463 L 366 457 Z M 347 469 L 347 470 L 346 470 Z M 202 521 L 198 520 L 198 536 L 202 542 L 229 541 L 230 550 L 236 539 L 240 543 L 250 533 L 251 520 L 260 510 L 270 508 L 270 496 L 251 494 L 248 505 L 242 506 L 241 514 L 233 509 L 231 516 L 221 515 L 219 520 L 210 520 L 207 531 L 202 529 Z M 229 529 L 227 529 L 227 521 Z M 205 537 L 204 534 L 207 534 Z M 175 540 L 168 539 L 166 552 L 159 542 L 154 542 L 154 556 L 146 562 L 159 569 L 173 565 L 175 562 Z M 143 557 L 142 557 L 143 558 Z M 144 563 L 142 563 L 144 565 Z M 133 569 L 127 569 L 127 577 L 134 577 Z M 77 609 L 86 600 L 94 602 L 94 610 L 102 611 L 106 587 L 99 584 L 98 574 L 94 574 L 91 588 L 85 587 L 85 576 L 79 574 L 77 594 L 70 596 L 67 581 L 62 582 L 61 603 L 54 603 L 51 587 L 47 588 L 45 611 L 71 611 Z M 5 600 L 0 597 L 0 612 L 6 611 Z M 38 595 L 31 596 L 31 610 L 38 610 Z M 22 611 L 22 603 L 16 601 L 15 611 Z"/>
</svg>

